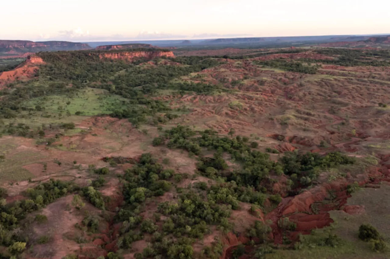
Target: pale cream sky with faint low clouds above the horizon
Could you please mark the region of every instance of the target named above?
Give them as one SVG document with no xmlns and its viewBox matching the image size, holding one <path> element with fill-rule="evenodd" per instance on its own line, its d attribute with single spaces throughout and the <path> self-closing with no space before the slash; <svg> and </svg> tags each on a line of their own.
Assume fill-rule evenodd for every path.
<svg viewBox="0 0 390 259">
<path fill-rule="evenodd" d="M 2 1 L 0 39 L 149 40 L 390 34 L 389 0 Z"/>
</svg>

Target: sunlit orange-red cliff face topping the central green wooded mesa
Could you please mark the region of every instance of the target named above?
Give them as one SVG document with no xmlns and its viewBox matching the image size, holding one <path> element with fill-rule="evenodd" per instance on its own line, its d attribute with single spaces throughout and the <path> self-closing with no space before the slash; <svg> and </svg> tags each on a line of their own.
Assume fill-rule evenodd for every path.
<svg viewBox="0 0 390 259">
<path fill-rule="evenodd" d="M 154 59 L 160 57 L 173 58 L 174 54 L 172 51 L 122 51 L 122 52 L 106 52 L 100 53 L 100 58 L 109 58 L 109 59 L 122 59 L 127 61 L 135 61 L 137 59 Z"/>
</svg>

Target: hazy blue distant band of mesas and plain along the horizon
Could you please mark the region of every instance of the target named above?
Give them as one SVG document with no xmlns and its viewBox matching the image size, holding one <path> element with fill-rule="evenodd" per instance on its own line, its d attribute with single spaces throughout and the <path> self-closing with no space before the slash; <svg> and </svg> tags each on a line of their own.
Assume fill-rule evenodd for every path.
<svg viewBox="0 0 390 259">
<path fill-rule="evenodd" d="M 245 37 L 202 40 L 140 40 L 122 42 L 68 42 L 29 40 L 0 40 L 0 58 L 24 58 L 39 51 L 73 51 L 94 49 L 135 49 L 151 47 L 289 47 L 304 44 L 322 44 L 324 47 L 388 47 L 390 35 L 328 35 L 294 37 Z"/>
</svg>

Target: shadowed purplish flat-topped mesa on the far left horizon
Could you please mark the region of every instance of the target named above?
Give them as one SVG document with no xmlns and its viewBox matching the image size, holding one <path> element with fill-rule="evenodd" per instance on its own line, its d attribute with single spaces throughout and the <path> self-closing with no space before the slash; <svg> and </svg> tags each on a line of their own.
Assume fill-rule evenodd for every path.
<svg viewBox="0 0 390 259">
<path fill-rule="evenodd" d="M 29 40 L 0 40 L 0 53 L 23 54 L 38 51 L 91 49 L 88 44 L 67 41 L 33 42 Z"/>
</svg>

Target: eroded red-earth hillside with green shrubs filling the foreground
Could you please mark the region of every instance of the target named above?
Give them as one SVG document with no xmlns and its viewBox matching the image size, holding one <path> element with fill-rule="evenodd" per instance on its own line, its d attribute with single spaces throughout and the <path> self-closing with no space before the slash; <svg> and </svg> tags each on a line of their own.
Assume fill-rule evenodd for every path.
<svg viewBox="0 0 390 259">
<path fill-rule="evenodd" d="M 37 53 L 4 81 L 1 252 L 388 258 L 390 53 L 211 53 Z"/>
</svg>

